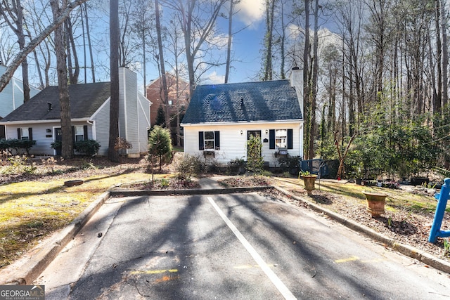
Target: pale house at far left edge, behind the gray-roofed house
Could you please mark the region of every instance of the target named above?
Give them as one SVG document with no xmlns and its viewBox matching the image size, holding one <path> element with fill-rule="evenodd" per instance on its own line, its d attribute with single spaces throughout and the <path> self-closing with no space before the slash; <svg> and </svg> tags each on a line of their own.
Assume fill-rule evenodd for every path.
<svg viewBox="0 0 450 300">
<path fill-rule="evenodd" d="M 6 72 L 6 66 L 0 63 L 0 76 Z M 40 90 L 30 86 L 30 97 L 39 93 Z M 0 120 L 10 112 L 23 105 L 23 81 L 11 78 L 11 81 L 0 92 Z M 0 125 L 0 138 L 5 137 L 5 128 Z"/>
</svg>

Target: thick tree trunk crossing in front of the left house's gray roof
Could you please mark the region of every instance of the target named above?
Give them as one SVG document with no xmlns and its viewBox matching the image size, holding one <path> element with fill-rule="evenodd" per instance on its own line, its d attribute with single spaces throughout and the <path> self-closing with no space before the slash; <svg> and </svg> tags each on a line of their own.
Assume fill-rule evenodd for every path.
<svg viewBox="0 0 450 300">
<path fill-rule="evenodd" d="M 63 0 L 61 7 L 59 0 L 51 0 L 51 11 L 53 13 L 53 20 L 56 20 L 60 15 L 60 11 L 65 9 L 67 1 Z M 58 86 L 59 86 L 59 103 L 61 114 L 61 134 L 63 139 L 61 141 L 61 155 L 68 159 L 73 157 L 73 134 L 72 124 L 70 119 L 70 99 L 68 88 L 68 73 L 67 65 L 65 64 L 65 44 L 63 27 L 59 26 L 55 30 L 55 52 L 56 52 L 56 70 L 58 72 Z"/>
</svg>

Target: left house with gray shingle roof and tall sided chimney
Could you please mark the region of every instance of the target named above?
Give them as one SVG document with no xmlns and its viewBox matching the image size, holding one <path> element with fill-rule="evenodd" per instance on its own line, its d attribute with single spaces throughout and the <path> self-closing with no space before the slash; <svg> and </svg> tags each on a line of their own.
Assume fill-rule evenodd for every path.
<svg viewBox="0 0 450 300">
<path fill-rule="evenodd" d="M 137 91 L 136 73 L 121 67 L 119 135 L 131 143 L 126 154 L 137 157 L 148 151 L 150 101 Z M 71 84 L 69 86 L 70 117 L 74 140 L 92 139 L 101 147 L 98 155 L 107 155 L 110 129 L 110 82 Z M 60 141 L 60 105 L 58 86 L 49 86 L 27 103 L 0 120 L 6 138 L 37 141 L 30 153 L 60 155 L 51 143 Z"/>
</svg>

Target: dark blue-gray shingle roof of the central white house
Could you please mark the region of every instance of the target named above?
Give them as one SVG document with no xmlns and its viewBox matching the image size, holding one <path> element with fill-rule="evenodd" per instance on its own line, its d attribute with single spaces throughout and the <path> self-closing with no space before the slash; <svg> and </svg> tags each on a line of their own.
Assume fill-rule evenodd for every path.
<svg viewBox="0 0 450 300">
<path fill-rule="evenodd" d="M 288 80 L 198 86 L 182 124 L 300 120 L 297 93 Z"/>
</svg>

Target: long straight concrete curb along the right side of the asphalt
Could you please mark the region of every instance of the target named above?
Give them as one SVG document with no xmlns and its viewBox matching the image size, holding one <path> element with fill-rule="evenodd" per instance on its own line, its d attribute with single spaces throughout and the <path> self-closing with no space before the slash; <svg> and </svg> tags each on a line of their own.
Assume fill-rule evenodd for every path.
<svg viewBox="0 0 450 300">
<path fill-rule="evenodd" d="M 333 211 L 330 211 L 328 209 L 324 209 L 323 207 L 320 207 L 317 204 L 314 204 L 302 197 L 297 197 L 293 195 L 292 193 L 288 192 L 287 190 L 284 190 L 283 188 L 274 187 L 276 190 L 280 191 L 281 193 L 288 195 L 289 197 L 292 197 L 295 200 L 298 200 L 300 202 L 303 202 L 304 204 L 307 204 L 309 209 L 312 209 L 314 211 L 317 211 L 321 214 L 326 214 L 331 219 L 338 221 L 338 223 L 341 223 L 342 225 L 358 231 L 359 233 L 362 233 L 366 235 L 367 237 L 370 237 L 372 240 L 375 240 L 377 242 L 385 244 L 387 247 L 390 247 L 391 249 L 400 252 L 401 254 L 404 254 L 406 256 L 411 257 L 412 259 L 417 259 L 418 261 L 425 263 L 428 266 L 431 266 L 432 268 L 435 268 L 437 270 L 442 270 L 443 272 L 450 273 L 450 263 L 448 261 L 444 261 L 443 259 L 439 259 L 432 254 L 425 252 L 423 250 L 417 249 L 415 247 L 411 247 L 407 244 L 401 244 L 399 242 L 396 242 L 390 237 L 386 237 L 385 235 L 382 235 L 381 233 L 377 233 L 375 230 L 372 230 L 371 228 L 368 228 L 367 226 L 364 226 L 360 223 L 357 223 L 353 220 L 347 219 L 340 214 L 336 214 Z"/>
</svg>

